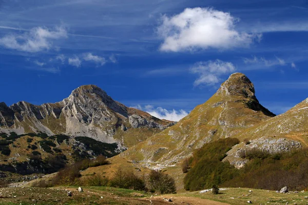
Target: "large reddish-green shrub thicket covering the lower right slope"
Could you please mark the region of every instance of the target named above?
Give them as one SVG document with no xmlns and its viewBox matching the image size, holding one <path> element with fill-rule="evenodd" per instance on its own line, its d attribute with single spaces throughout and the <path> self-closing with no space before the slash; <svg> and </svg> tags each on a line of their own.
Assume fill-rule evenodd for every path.
<svg viewBox="0 0 308 205">
<path fill-rule="evenodd" d="M 185 189 L 197 191 L 213 185 L 266 190 L 287 186 L 294 191 L 308 188 L 308 149 L 275 154 L 255 148 L 246 150 L 240 155 L 249 161 L 236 169 L 221 158 L 237 143 L 237 139 L 220 139 L 197 150 L 185 165 L 191 167 L 184 178 Z"/>
</svg>

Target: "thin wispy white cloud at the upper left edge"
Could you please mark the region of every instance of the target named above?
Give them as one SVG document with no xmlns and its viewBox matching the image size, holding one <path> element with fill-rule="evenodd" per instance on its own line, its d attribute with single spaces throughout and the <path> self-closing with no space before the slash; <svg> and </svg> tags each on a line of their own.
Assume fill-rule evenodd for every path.
<svg viewBox="0 0 308 205">
<path fill-rule="evenodd" d="M 56 27 L 54 30 L 35 27 L 22 34 L 12 33 L 0 38 L 0 45 L 25 52 L 40 52 L 52 47 L 52 40 L 67 37 L 64 27 Z"/>
</svg>

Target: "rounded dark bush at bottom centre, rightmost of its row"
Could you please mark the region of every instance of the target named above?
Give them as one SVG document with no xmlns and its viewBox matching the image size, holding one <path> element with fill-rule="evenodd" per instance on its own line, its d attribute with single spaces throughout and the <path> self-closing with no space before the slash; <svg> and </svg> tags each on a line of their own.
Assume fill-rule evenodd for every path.
<svg viewBox="0 0 308 205">
<path fill-rule="evenodd" d="M 163 172 L 152 170 L 149 174 L 148 183 L 151 192 L 158 192 L 160 194 L 176 193 L 174 178 Z"/>
</svg>

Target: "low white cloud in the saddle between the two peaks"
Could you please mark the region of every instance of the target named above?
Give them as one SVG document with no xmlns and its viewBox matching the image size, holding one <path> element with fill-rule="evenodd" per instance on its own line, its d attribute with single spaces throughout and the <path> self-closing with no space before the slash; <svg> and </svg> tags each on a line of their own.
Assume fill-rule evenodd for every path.
<svg viewBox="0 0 308 205">
<path fill-rule="evenodd" d="M 143 110 L 159 119 L 167 119 L 171 121 L 179 121 L 180 119 L 188 115 L 188 113 L 185 110 L 178 110 L 178 111 L 175 109 L 167 110 L 161 107 L 155 109 L 154 106 L 152 105 L 146 105 L 144 107 L 142 107 L 141 105 L 137 105 L 134 106 L 133 108 Z"/>
</svg>

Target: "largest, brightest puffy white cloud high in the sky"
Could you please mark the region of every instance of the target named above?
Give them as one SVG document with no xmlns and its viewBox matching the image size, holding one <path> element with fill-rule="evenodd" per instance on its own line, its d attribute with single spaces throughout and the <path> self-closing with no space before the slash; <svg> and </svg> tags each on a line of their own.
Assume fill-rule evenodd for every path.
<svg viewBox="0 0 308 205">
<path fill-rule="evenodd" d="M 238 18 L 211 8 L 186 8 L 175 16 L 164 15 L 162 20 L 158 28 L 164 39 L 162 51 L 248 47 L 262 36 L 240 33 L 235 29 Z"/>
</svg>

